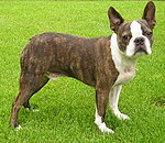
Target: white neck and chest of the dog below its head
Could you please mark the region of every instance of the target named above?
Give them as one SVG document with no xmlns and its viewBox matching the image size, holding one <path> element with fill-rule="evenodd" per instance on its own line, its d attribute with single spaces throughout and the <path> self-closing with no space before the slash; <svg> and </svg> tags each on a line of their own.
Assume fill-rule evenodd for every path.
<svg viewBox="0 0 165 143">
<path fill-rule="evenodd" d="M 111 48 L 112 59 L 114 62 L 116 68 L 120 73 L 119 80 L 117 80 L 116 84 L 117 85 L 118 84 L 124 84 L 134 77 L 135 66 L 136 66 L 138 59 L 125 56 L 119 50 L 116 33 L 113 33 L 111 36 L 110 48 Z"/>
</svg>

